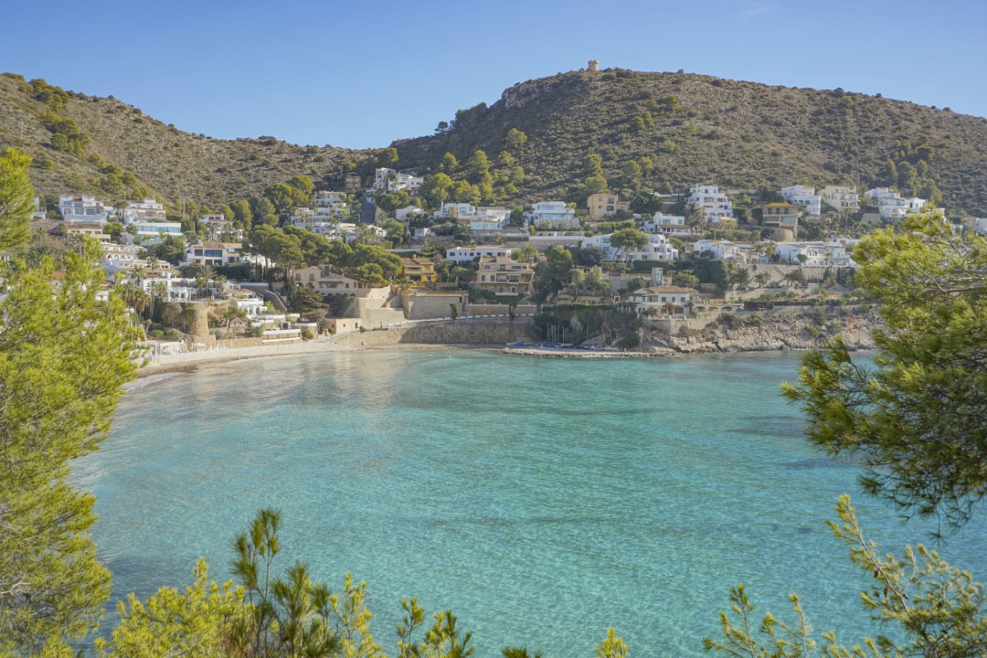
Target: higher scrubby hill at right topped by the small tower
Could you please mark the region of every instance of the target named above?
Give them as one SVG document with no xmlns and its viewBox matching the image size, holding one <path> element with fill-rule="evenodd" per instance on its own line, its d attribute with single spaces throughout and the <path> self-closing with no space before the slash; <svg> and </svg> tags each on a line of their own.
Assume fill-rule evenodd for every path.
<svg viewBox="0 0 987 658">
<path fill-rule="evenodd" d="M 777 190 L 803 178 L 890 184 L 891 158 L 903 182 L 915 170 L 902 191 L 936 183 L 950 214 L 987 213 L 987 118 L 842 90 L 574 71 L 514 85 L 489 109 L 461 111 L 447 132 L 393 146 L 406 167 L 434 168 L 447 151 L 464 162 L 475 149 L 493 161 L 510 128 L 528 136 L 516 154 L 528 201 L 565 196 L 589 153 L 602 156 L 611 188 L 621 186 L 628 160 L 646 157 L 653 171 L 645 186 L 669 191 L 694 183 Z"/>
</svg>

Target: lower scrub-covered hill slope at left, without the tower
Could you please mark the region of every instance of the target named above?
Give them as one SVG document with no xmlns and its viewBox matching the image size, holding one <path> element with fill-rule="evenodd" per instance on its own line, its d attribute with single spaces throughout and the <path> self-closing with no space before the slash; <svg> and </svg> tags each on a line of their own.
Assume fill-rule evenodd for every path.
<svg viewBox="0 0 987 658">
<path fill-rule="evenodd" d="M 296 174 L 310 176 L 324 186 L 338 183 L 346 162 L 368 155 L 296 146 L 272 137 L 212 139 L 165 125 L 112 97 L 51 92 L 44 101 L 36 96 L 43 98 L 45 92 L 37 92 L 17 77 L 0 76 L 0 150 L 14 146 L 35 158 L 33 177 L 41 193 L 91 191 L 105 197 L 122 196 L 114 193 L 119 191 L 115 182 L 107 180 L 115 166 L 119 170 L 116 177 L 124 181 L 124 193 L 143 185 L 170 200 L 224 202 L 259 194 L 266 185 L 282 183 Z M 87 142 L 79 153 L 52 146 L 54 132 L 45 126 L 46 111 L 74 121 Z"/>
</svg>

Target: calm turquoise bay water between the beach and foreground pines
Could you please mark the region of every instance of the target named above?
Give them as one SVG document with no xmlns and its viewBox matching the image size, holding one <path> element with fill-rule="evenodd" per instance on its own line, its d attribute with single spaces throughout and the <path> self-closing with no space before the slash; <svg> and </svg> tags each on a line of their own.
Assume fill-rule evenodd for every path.
<svg viewBox="0 0 987 658">
<path fill-rule="evenodd" d="M 858 470 L 801 437 L 778 395 L 798 355 L 628 361 L 463 350 L 244 361 L 129 393 L 76 474 L 114 598 L 190 581 L 199 555 L 229 577 L 230 540 L 279 507 L 284 557 L 334 586 L 367 581 L 394 653 L 399 601 L 451 608 L 478 658 L 527 645 L 593 655 L 608 625 L 635 656 L 699 656 L 727 590 L 761 612 L 797 592 L 819 630 L 873 632 L 866 580 L 823 519 L 855 493 L 893 548 L 903 526 L 856 493 Z M 987 527 L 945 556 L 987 577 Z M 866 618 L 865 618 L 866 619 Z"/>
</svg>

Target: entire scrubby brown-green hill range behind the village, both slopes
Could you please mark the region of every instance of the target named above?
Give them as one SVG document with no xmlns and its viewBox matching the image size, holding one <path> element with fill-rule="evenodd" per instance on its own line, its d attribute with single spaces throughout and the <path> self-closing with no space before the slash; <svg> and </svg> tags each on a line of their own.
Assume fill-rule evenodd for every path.
<svg viewBox="0 0 987 658">
<path fill-rule="evenodd" d="M 338 186 L 348 163 L 372 171 L 373 151 L 302 147 L 272 137 L 211 139 L 113 97 L 51 92 L 56 88 L 17 78 L 0 76 L 0 149 L 16 146 L 35 156 L 35 182 L 44 193 L 114 197 L 146 187 L 168 199 L 212 203 L 258 194 L 296 174 L 320 187 Z M 63 119 L 84 135 L 78 145 L 71 134 L 67 145 L 55 134 L 71 133 Z M 511 128 L 527 141 L 511 149 L 515 163 L 500 166 L 497 154 Z M 514 85 L 490 108 L 461 110 L 442 132 L 392 146 L 398 168 L 422 172 L 436 171 L 442 156 L 453 153 L 460 162 L 453 178 L 465 177 L 466 161 L 483 149 L 500 192 L 496 200 L 510 205 L 575 198 L 585 157 L 598 154 L 611 189 L 671 191 L 702 182 L 777 190 L 800 179 L 817 186 L 898 183 L 905 193 L 941 190 L 950 216 L 987 216 L 987 118 L 842 90 L 684 73 L 574 71 Z M 640 178 L 626 171 L 630 160 L 644 166 Z M 524 175 L 513 179 L 515 191 L 505 179 L 517 165 Z"/>
</svg>

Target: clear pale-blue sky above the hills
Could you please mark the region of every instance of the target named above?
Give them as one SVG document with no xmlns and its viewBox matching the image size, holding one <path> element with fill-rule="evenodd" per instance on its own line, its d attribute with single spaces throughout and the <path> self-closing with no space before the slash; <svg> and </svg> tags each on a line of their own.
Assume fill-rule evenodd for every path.
<svg viewBox="0 0 987 658">
<path fill-rule="evenodd" d="M 985 5 L 4 0 L 0 70 L 114 95 L 190 132 L 348 148 L 430 134 L 460 108 L 587 59 L 985 116 Z"/>
</svg>

